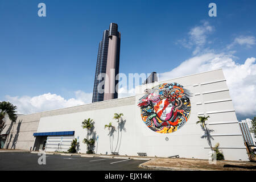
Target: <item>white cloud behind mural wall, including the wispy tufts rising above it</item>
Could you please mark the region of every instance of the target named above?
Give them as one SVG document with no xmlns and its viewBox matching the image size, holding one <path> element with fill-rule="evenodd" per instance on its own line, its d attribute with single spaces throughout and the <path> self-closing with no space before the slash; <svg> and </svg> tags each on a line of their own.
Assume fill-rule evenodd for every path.
<svg viewBox="0 0 256 182">
<path fill-rule="evenodd" d="M 160 73 L 160 80 L 222 68 L 236 113 L 243 116 L 256 114 L 255 58 L 248 58 L 243 64 L 238 64 L 234 60 L 237 57 L 233 56 L 236 51 L 230 51 L 236 45 L 250 48 L 256 44 L 255 37 L 241 35 L 226 46 L 225 52 L 215 53 L 216 50 L 207 47 L 207 44 L 210 44 L 208 35 L 213 31 L 214 27 L 208 22 L 191 28 L 188 38 L 178 42 L 185 48 L 193 48 L 193 57 L 183 61 L 170 72 Z"/>
</svg>

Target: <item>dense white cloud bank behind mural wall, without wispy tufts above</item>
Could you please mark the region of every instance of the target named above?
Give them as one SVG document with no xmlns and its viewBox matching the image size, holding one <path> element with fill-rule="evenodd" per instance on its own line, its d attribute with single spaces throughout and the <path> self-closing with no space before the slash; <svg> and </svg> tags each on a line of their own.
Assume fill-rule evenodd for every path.
<svg viewBox="0 0 256 182">
<path fill-rule="evenodd" d="M 247 58 L 243 64 L 238 64 L 233 59 L 234 56 L 225 53 L 205 53 L 185 60 L 170 72 L 160 73 L 159 80 L 222 68 L 236 113 L 244 116 L 255 115 L 256 59 L 255 57 Z"/>
</svg>

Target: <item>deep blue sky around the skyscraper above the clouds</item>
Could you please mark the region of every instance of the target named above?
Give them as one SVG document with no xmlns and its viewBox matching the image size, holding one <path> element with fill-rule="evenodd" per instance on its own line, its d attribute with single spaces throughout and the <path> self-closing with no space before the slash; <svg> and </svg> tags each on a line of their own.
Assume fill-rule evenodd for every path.
<svg viewBox="0 0 256 182">
<path fill-rule="evenodd" d="M 46 4 L 46 17 L 38 16 L 40 2 Z M 217 5 L 217 17 L 208 15 L 211 2 Z M 170 72 L 208 52 L 225 52 L 243 64 L 256 57 L 255 5 L 255 1 L 0 0 L 0 100 L 46 93 L 69 100 L 77 90 L 91 93 L 98 43 L 111 22 L 118 23 L 121 32 L 121 73 Z M 203 44 L 191 34 L 195 27 L 206 30 Z"/>
</svg>

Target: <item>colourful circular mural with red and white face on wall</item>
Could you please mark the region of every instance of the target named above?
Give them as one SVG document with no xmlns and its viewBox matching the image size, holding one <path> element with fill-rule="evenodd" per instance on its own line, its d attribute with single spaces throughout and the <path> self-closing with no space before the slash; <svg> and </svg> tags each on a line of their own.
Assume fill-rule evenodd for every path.
<svg viewBox="0 0 256 182">
<path fill-rule="evenodd" d="M 172 133 L 180 129 L 189 118 L 192 93 L 177 83 L 161 84 L 145 90 L 139 99 L 141 117 L 151 130 Z"/>
</svg>

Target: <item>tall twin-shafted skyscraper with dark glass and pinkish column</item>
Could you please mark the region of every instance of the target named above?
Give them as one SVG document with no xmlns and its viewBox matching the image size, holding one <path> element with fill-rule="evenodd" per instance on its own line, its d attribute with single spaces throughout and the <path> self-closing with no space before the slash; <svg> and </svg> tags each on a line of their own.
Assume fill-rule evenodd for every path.
<svg viewBox="0 0 256 182">
<path fill-rule="evenodd" d="M 115 86 L 118 86 L 119 55 L 121 34 L 118 25 L 110 23 L 109 30 L 105 30 L 98 47 L 96 72 L 94 77 L 92 102 L 110 100 L 118 97 Z M 107 77 L 105 77 L 108 75 Z M 105 78 L 106 79 L 105 81 Z M 114 89 L 114 90 L 113 90 Z"/>
</svg>

